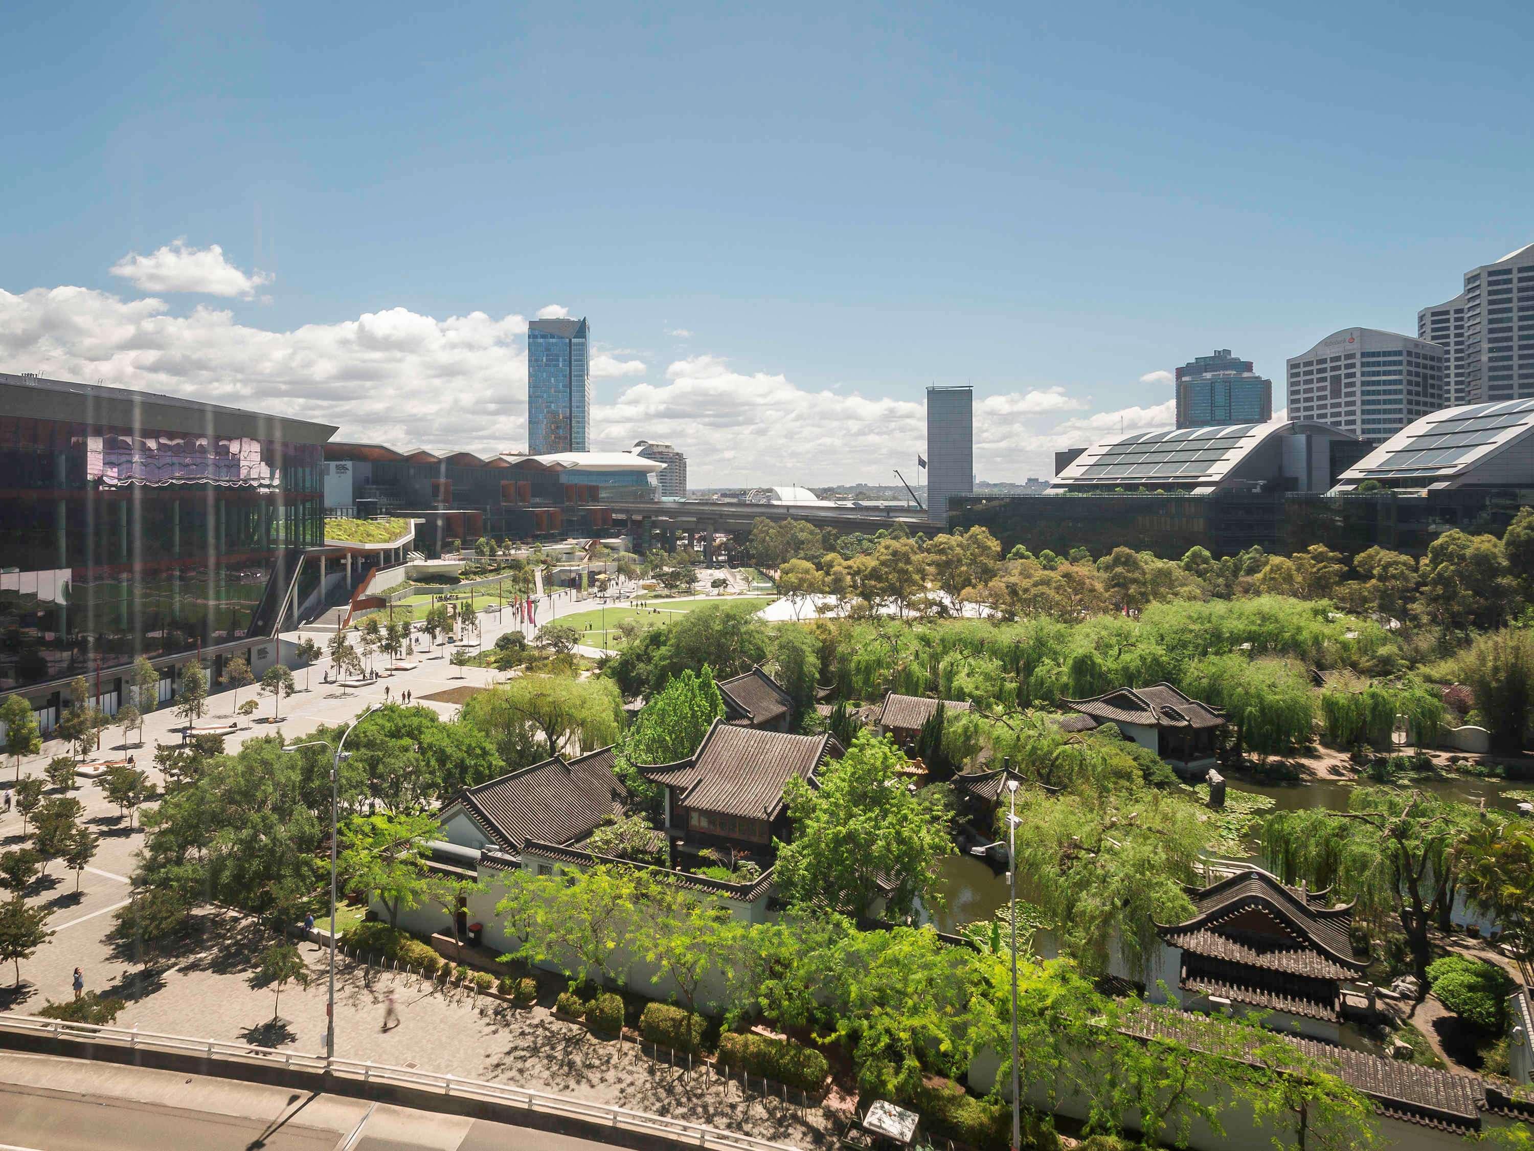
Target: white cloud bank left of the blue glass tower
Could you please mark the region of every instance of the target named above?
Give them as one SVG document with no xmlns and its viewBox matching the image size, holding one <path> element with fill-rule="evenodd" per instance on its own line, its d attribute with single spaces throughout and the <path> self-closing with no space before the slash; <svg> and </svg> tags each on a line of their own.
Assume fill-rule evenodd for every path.
<svg viewBox="0 0 1534 1151">
<path fill-rule="evenodd" d="M 0 365 L 337 424 L 337 439 L 526 445 L 528 322 L 407 308 L 267 331 L 80 287 L 0 290 Z"/>
</svg>

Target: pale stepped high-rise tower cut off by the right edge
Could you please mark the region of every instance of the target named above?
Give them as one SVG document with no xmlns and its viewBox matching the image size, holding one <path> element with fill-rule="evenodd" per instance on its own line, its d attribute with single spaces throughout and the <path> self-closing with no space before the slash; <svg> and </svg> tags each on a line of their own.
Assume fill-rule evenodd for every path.
<svg viewBox="0 0 1534 1151">
<path fill-rule="evenodd" d="M 1448 353 L 1451 404 L 1534 396 L 1534 244 L 1467 272 L 1460 295 L 1417 313 L 1417 335 Z"/>
</svg>

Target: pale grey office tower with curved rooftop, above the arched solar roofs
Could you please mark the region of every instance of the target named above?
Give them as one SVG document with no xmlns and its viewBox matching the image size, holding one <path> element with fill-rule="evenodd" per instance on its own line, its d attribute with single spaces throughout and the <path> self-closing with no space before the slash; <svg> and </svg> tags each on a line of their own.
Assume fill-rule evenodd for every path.
<svg viewBox="0 0 1534 1151">
<path fill-rule="evenodd" d="M 1443 348 L 1374 328 L 1342 328 L 1289 361 L 1289 417 L 1384 444 L 1445 407 Z"/>
</svg>

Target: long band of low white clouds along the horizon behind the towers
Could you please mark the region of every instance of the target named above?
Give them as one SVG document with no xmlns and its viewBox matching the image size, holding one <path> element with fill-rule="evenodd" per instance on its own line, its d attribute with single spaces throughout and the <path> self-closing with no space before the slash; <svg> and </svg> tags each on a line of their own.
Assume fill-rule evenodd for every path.
<svg viewBox="0 0 1534 1151">
<path fill-rule="evenodd" d="M 175 315 L 164 299 L 81 287 L 0 290 L 0 368 L 195 396 L 339 425 L 344 440 L 491 454 L 526 445 L 526 330 L 520 315 L 437 319 L 379 308 L 356 319 L 270 331 L 219 307 Z M 726 358 L 676 359 L 646 379 L 640 359 L 603 353 L 592 374 L 626 388 L 592 413 L 592 445 L 670 440 L 698 486 L 893 482 L 927 454 L 920 396 L 811 391 Z M 1092 411 L 1058 385 L 983 396 L 982 479 L 1051 473 L 1049 453 L 1117 433 L 1169 427 L 1172 404 Z"/>
</svg>

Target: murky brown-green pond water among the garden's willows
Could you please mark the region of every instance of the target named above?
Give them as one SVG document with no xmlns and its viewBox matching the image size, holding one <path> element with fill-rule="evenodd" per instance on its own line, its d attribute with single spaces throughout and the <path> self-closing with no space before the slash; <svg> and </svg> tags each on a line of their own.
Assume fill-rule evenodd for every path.
<svg viewBox="0 0 1534 1151">
<path fill-rule="evenodd" d="M 1345 780 L 1315 780 L 1296 784 L 1256 784 L 1244 780 L 1230 780 L 1229 787 L 1235 792 L 1252 792 L 1273 798 L 1278 810 L 1299 810 L 1305 807 L 1330 807 L 1347 810 L 1348 795 L 1356 784 Z M 1457 800 L 1459 803 L 1480 804 L 1499 810 L 1517 810 L 1517 800 L 1505 792 L 1525 789 L 1534 790 L 1529 781 L 1477 780 L 1471 777 L 1453 777 L 1437 780 L 1413 780 L 1411 787 L 1431 792 L 1442 800 Z M 1256 855 L 1246 856 L 1249 862 L 1261 864 Z M 992 872 L 989 864 L 973 855 L 960 853 L 946 856 L 939 864 L 942 876 L 942 893 L 945 905 L 933 916 L 933 922 L 940 932 L 954 932 L 963 924 L 989 919 L 997 910 L 1006 907 L 1006 875 Z M 1023 898 L 1023 893 L 1019 892 Z"/>
</svg>

